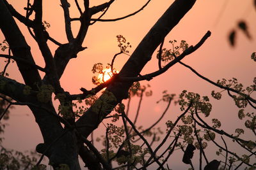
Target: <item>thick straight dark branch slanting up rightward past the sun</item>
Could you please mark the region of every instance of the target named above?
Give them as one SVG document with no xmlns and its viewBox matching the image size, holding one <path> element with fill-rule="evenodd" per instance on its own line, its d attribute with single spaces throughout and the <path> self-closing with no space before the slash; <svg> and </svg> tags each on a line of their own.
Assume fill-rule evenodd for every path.
<svg viewBox="0 0 256 170">
<path fill-rule="evenodd" d="M 163 41 L 163 38 L 177 25 L 182 17 L 192 8 L 195 0 L 176 0 L 166 10 L 156 24 L 150 29 L 148 34 L 143 38 L 140 45 L 134 50 L 129 60 L 125 63 L 124 67 L 118 74 L 122 77 L 134 77 L 138 76 L 141 69 L 151 59 L 152 53 L 156 50 L 157 46 Z M 182 8 L 180 8 L 182 6 Z M 109 106 L 116 106 L 122 99 L 127 97 L 127 92 L 131 87 L 132 82 L 113 82 L 108 86 L 106 92 L 111 92 L 116 97 L 116 100 L 109 100 Z M 103 96 L 106 94 L 102 94 Z M 110 111 L 104 111 L 102 113 L 95 113 L 93 111 L 93 105 L 84 115 L 77 120 L 76 124 L 86 127 L 79 129 L 81 134 L 87 137 L 95 128 L 98 127 L 102 119 L 110 113 Z"/>
</svg>

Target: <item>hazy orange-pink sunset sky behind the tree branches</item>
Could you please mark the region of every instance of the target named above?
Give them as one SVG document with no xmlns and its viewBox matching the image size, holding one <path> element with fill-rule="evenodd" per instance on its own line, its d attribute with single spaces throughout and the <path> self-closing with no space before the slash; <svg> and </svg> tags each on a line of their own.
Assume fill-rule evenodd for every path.
<svg viewBox="0 0 256 170">
<path fill-rule="evenodd" d="M 26 6 L 26 1 L 8 0 L 8 2 L 20 13 L 25 14 L 23 8 Z M 83 6 L 83 1 L 79 2 Z M 90 6 L 105 2 L 93 0 Z M 109 11 L 103 18 L 123 17 L 140 9 L 146 2 L 146 0 L 118 0 L 111 5 L 111 8 L 109 8 Z M 81 93 L 79 90 L 81 87 L 88 90 L 95 87 L 92 83 L 92 76 L 94 76 L 92 66 L 98 62 L 101 62 L 104 66 L 111 63 L 115 53 L 119 52 L 116 35 L 122 34 L 131 43 L 132 48 L 129 50 L 131 54 L 152 25 L 154 25 L 157 19 L 161 17 L 172 3 L 173 1 L 152 0 L 137 15 L 116 22 L 96 22 L 89 27 L 83 43 L 83 46 L 88 47 L 88 49 L 80 52 L 76 59 L 70 60 L 67 69 L 61 77 L 63 89 L 70 92 L 70 94 L 79 94 Z M 71 17 L 79 17 L 79 12 L 75 4 L 70 2 L 70 5 Z M 63 10 L 60 6 L 60 1 L 44 1 L 43 9 L 43 20 L 51 24 L 51 27 L 47 29 L 51 37 L 60 43 L 67 43 Z M 93 18 L 97 18 L 97 16 Z M 239 0 L 198 0 L 173 31 L 166 36 L 164 48 L 170 48 L 168 41 L 173 39 L 176 39 L 178 42 L 184 39 L 189 45 L 195 45 L 207 31 L 211 31 L 212 35 L 205 41 L 204 45 L 196 50 L 195 53 L 185 57 L 182 62 L 193 67 L 196 71 L 213 81 L 221 78 L 231 79 L 232 77 L 236 77 L 244 86 L 248 86 L 253 83 L 252 80 L 255 77 L 256 63 L 250 57 L 252 52 L 256 52 L 255 18 L 256 8 L 253 6 L 252 0 L 246 0 L 243 3 Z M 246 21 L 252 39 L 247 39 L 242 31 L 237 31 L 237 43 L 235 48 L 232 48 L 228 44 L 228 33 L 232 29 L 237 29 L 237 22 L 239 20 Z M 26 27 L 18 21 L 17 23 L 20 25 L 22 32 L 24 32 L 29 46 L 31 46 L 31 52 L 33 53 L 36 64 L 44 67 L 44 59 L 36 46 L 36 42 L 29 36 Z M 74 35 L 77 33 L 78 26 L 77 21 L 72 24 Z M 0 33 L 0 41 L 3 39 L 3 34 Z M 51 42 L 49 42 L 49 46 L 52 53 L 54 53 L 57 46 Z M 119 55 L 115 60 L 116 69 L 120 70 L 127 59 L 129 59 L 128 55 Z M 3 70 L 3 64 L 4 62 L 1 62 L 1 70 Z M 151 73 L 157 69 L 155 52 L 152 60 L 148 62 L 141 74 Z M 21 83 L 24 82 L 15 63 L 10 64 L 7 72 L 10 74 L 10 78 Z M 44 76 L 44 73 L 42 73 L 42 76 Z M 201 80 L 189 69 L 180 64 L 176 64 L 166 73 L 157 76 L 151 81 L 141 82 L 143 85 L 147 85 L 147 83 L 150 84 L 150 89 L 153 90 L 153 96 L 143 100 L 141 114 L 138 118 L 138 125 L 141 124 L 145 128 L 154 123 L 156 118 L 165 109 L 166 103 L 156 103 L 156 101 L 161 99 L 163 90 L 168 90 L 169 93 L 179 95 L 182 90 L 186 89 L 191 92 L 197 92 L 202 96 L 211 96 L 212 90 L 221 91 L 208 82 Z M 234 106 L 234 101 L 230 97 L 225 96 L 221 101 L 216 101 L 210 97 L 210 101 L 213 103 L 213 109 L 211 116 L 205 118 L 205 120 L 210 121 L 211 118 L 219 118 L 223 122 L 221 129 L 227 129 L 230 133 L 234 132 L 237 124 L 243 125 L 243 122 L 237 118 L 239 108 Z M 135 113 L 132 111 L 136 110 L 136 106 L 138 106 L 138 99 L 134 98 L 132 110 L 129 113 L 131 119 L 134 118 Z M 246 111 L 252 111 L 252 109 L 249 108 Z M 180 113 L 179 106 L 172 104 L 164 120 L 161 122 L 163 131 L 165 130 L 164 124 L 166 120 L 175 120 Z M 227 120 L 229 121 L 227 122 Z M 35 118 L 27 107 L 15 106 L 15 109 L 11 111 L 10 120 L 6 121 L 6 123 L 9 124 L 4 132 L 4 146 L 7 148 L 30 150 L 35 149 L 38 143 L 42 143 L 42 136 L 35 123 Z M 96 134 L 100 134 L 104 130 L 104 126 L 100 125 Z M 246 137 L 246 134 L 244 136 Z M 218 159 L 215 154 L 209 155 L 209 157 Z M 170 162 L 172 162 L 172 159 L 171 157 Z M 196 159 L 193 159 L 193 161 L 198 162 Z M 173 169 L 176 169 L 175 167 L 179 167 L 179 164 L 182 164 L 181 160 L 177 163 L 170 163 L 169 166 L 173 165 Z"/>
</svg>

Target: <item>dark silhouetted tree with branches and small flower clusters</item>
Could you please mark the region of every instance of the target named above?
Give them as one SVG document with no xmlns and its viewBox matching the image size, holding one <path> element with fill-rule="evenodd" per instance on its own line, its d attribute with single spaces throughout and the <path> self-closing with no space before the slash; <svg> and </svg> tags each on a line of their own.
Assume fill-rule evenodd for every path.
<svg viewBox="0 0 256 170">
<path fill-rule="evenodd" d="M 80 156 L 88 169 L 147 169 L 152 164 L 156 164 L 158 169 L 164 169 L 164 167 L 169 169 L 167 160 L 177 148 L 184 151 L 183 162 L 190 164 L 192 169 L 194 167 L 191 158 L 195 148 L 200 151 L 200 169 L 202 169 L 202 157 L 204 157 L 207 164 L 205 169 L 218 169 L 220 163 L 223 163 L 223 169 L 226 169 L 228 166 L 231 168 L 234 162 L 239 162 L 236 165 L 236 169 L 242 164 L 246 164 L 250 168 L 255 167 L 255 164 L 250 161 L 250 157 L 255 156 L 256 116 L 254 113 L 245 114 L 244 108 L 250 105 L 255 109 L 256 100 L 253 99 L 252 93 L 256 90 L 256 78 L 254 78 L 251 86 L 243 89 L 243 85 L 238 83 L 236 78 L 232 80 L 223 79 L 215 83 L 196 72 L 192 67 L 181 62 L 184 57 L 195 52 L 204 44 L 206 39 L 211 36 L 210 31 L 207 31 L 195 46 L 189 46 L 186 41 L 181 41 L 178 45 L 177 41 L 170 41 L 173 48 L 163 48 L 166 35 L 172 31 L 173 27 L 193 7 L 195 1 L 174 1 L 141 40 L 119 73 L 114 68 L 115 58 L 121 53 L 128 53 L 131 44 L 122 35 L 118 35 L 120 52 L 116 53 L 111 64 L 107 66 L 111 72 L 104 72 L 104 67 L 101 63 L 93 66 L 93 73 L 103 74 L 102 77 L 104 77 L 104 74 L 111 74 L 111 79 L 104 80 L 104 78 L 101 78 L 102 80 L 99 80 L 99 77 L 95 76 L 93 77 L 93 83 L 97 87 L 91 90 L 81 88 L 81 94 L 70 94 L 61 87 L 60 78 L 70 59 L 76 58 L 79 52 L 86 49 L 82 44 L 88 27 L 95 24 L 95 22 L 110 22 L 131 17 L 143 10 L 150 0 L 140 10 L 125 17 L 115 19 L 102 19 L 115 0 L 92 7 L 90 7 L 88 0 L 84 0 L 84 11 L 81 10 L 80 4 L 75 0 L 77 10 L 80 13 L 80 16 L 77 18 L 70 17 L 70 4 L 67 0 L 61 0 L 61 7 L 65 17 L 65 32 L 68 39 L 68 42 L 65 44 L 59 43 L 47 32 L 47 28 L 50 25 L 42 20 L 42 0 L 35 0 L 33 4 L 28 1 L 28 5 L 24 8 L 26 16 L 16 11 L 8 1 L 1 0 L 0 28 L 5 38 L 1 47 L 3 47 L 3 51 L 8 49 L 8 53 L 0 54 L 0 57 L 7 59 L 6 67 L 8 67 L 12 60 L 15 61 L 24 80 L 23 84 L 8 78 L 6 67 L 4 67 L 0 76 L 0 93 L 2 94 L 0 97 L 1 102 L 3 102 L 1 118 L 6 117 L 10 106 L 28 106 L 35 116 L 35 121 L 44 138 L 44 143 L 36 146 L 36 152 L 42 154 L 42 157 L 36 164 L 34 159 L 25 161 L 27 165 L 23 165 L 24 162 L 18 165 L 17 162 L 11 161 L 10 157 L 12 155 L 8 155 L 3 150 L 0 159 L 1 168 L 9 169 L 13 165 L 18 165 L 12 168 L 45 169 L 40 163 L 42 158 L 46 156 L 49 159 L 49 164 L 54 169 L 81 169 L 78 160 Z M 102 14 L 98 18 L 93 18 L 93 16 L 100 12 Z M 35 18 L 32 20 L 31 17 L 33 16 Z M 42 53 L 45 67 L 35 64 L 31 49 L 14 18 L 28 27 L 31 36 L 35 39 Z M 77 20 L 80 22 L 80 27 L 77 35 L 74 36 L 71 22 Z M 240 24 L 240 28 L 243 29 L 244 25 Z M 54 53 L 49 48 L 49 41 L 58 45 Z M 152 58 L 152 54 L 158 46 L 160 46 L 157 53 L 159 69 L 153 73 L 141 75 L 141 70 Z M 255 53 L 252 54 L 252 59 L 255 60 Z M 168 106 L 155 124 L 148 127 L 148 129 L 137 127 L 135 125 L 136 120 L 132 122 L 127 116 L 128 111 L 125 111 L 122 101 L 124 99 L 130 100 L 132 96 L 139 96 L 142 99 L 143 94 L 150 96 L 147 87 L 141 86 L 138 81 L 152 80 L 152 78 L 163 74 L 177 63 L 188 67 L 196 75 L 212 85 L 227 91 L 228 95 L 234 99 L 237 107 L 241 108 L 239 118 L 248 118 L 245 126 L 252 131 L 254 138 L 240 138 L 240 134 L 244 132 L 243 129 L 236 129 L 237 135 L 228 134 L 220 130 L 221 122 L 216 118 L 212 119 L 212 125 L 207 124 L 202 119 L 202 115 L 208 117 L 211 112 L 212 106 L 209 103 L 209 97 L 200 97 L 199 94 L 186 90 L 180 94 L 179 100 L 176 101 L 179 103 L 182 113 L 180 113 L 176 120 L 166 122 L 167 131 L 161 141 L 159 141 L 159 134 L 163 132 L 159 130 L 154 131 L 153 127 L 158 124 L 159 120 L 163 118 L 163 115 L 168 110 L 170 103 L 174 100 L 173 94 L 164 92 L 161 101 L 167 102 Z M 45 76 L 40 76 L 39 71 L 44 73 Z M 106 89 L 100 97 L 97 97 L 96 94 L 99 94 L 104 88 Z M 52 104 L 52 94 L 54 94 L 54 99 L 60 101 L 58 110 Z M 221 99 L 221 92 L 212 91 L 212 97 Z M 82 104 L 83 101 L 88 107 Z M 129 108 L 128 105 L 126 108 Z M 109 115 L 111 112 L 113 114 Z M 97 129 L 102 120 L 109 117 L 113 118 L 113 122 L 122 118 L 123 125 L 122 127 L 117 127 L 115 124 L 106 125 L 106 136 L 102 139 L 106 147 L 99 152 L 93 145 L 93 142 L 87 138 Z M 217 135 L 221 135 L 221 139 L 223 139 L 222 136 L 225 136 L 238 143 L 248 152 L 248 155 L 237 155 L 236 152 L 232 152 L 227 147 L 224 139 L 223 143 L 225 146 L 221 146 L 218 141 L 214 140 Z M 152 138 L 151 143 L 148 143 L 147 136 Z M 139 139 L 142 141 L 142 144 L 136 145 L 136 141 Z M 171 139 L 171 141 L 168 141 L 168 139 Z M 153 148 L 152 143 L 156 141 L 159 141 L 159 144 L 156 148 Z M 168 147 L 164 149 L 163 153 L 159 154 L 159 149 L 164 148 L 164 144 L 167 141 Z M 218 154 L 225 152 L 225 162 L 220 162 L 219 160 L 209 161 L 207 159 L 207 154 L 204 151 L 207 141 L 212 141 L 217 148 L 220 148 Z M 228 157 L 228 155 L 231 156 Z M 113 161 L 117 162 L 117 164 L 112 164 Z"/>
</svg>

